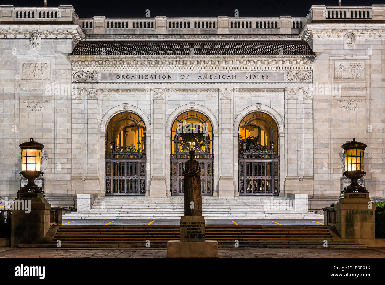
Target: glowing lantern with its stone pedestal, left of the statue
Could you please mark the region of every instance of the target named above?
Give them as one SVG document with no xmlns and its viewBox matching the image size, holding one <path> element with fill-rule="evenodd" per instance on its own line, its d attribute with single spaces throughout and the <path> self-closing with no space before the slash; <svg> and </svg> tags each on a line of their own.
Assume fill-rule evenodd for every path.
<svg viewBox="0 0 385 285">
<path fill-rule="evenodd" d="M 42 174 L 40 167 L 44 145 L 31 138 L 19 147 L 22 154 L 20 174 L 28 179 L 28 184 L 20 187 L 12 207 L 11 247 L 29 244 L 32 240 L 44 240 L 50 227 L 51 204 L 41 188 L 35 185 L 35 179 Z"/>
</svg>

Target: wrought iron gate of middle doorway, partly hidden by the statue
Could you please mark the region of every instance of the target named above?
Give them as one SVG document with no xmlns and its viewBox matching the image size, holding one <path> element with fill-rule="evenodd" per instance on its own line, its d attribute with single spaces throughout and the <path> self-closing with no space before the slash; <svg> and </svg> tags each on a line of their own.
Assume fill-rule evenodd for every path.
<svg viewBox="0 0 385 285">
<path fill-rule="evenodd" d="M 183 196 L 184 164 L 189 159 L 189 152 L 171 154 L 171 195 Z M 214 155 L 207 152 L 195 152 L 195 159 L 201 168 L 202 196 L 213 196 L 214 192 Z"/>
</svg>

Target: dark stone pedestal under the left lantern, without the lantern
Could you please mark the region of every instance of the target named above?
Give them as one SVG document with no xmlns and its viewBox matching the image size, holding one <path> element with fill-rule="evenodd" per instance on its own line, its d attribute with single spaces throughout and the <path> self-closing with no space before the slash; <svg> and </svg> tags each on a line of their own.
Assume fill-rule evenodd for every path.
<svg viewBox="0 0 385 285">
<path fill-rule="evenodd" d="M 18 193 L 12 204 L 11 247 L 44 240 L 50 227 L 50 211 L 44 193 Z"/>
</svg>

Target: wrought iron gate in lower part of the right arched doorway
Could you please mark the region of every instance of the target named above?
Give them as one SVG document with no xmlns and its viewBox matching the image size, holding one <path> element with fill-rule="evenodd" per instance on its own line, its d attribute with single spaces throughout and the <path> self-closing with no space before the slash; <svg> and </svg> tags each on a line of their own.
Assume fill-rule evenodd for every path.
<svg viewBox="0 0 385 285">
<path fill-rule="evenodd" d="M 238 156 L 239 196 L 278 196 L 280 158 L 274 151 L 251 146 Z"/>
</svg>

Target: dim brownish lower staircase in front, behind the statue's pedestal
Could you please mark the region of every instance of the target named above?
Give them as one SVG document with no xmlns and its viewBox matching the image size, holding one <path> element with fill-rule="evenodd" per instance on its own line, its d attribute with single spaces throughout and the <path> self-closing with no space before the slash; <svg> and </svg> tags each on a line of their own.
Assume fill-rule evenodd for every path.
<svg viewBox="0 0 385 285">
<path fill-rule="evenodd" d="M 24 248 L 166 248 L 168 240 L 179 240 L 179 226 L 72 226 L 61 225 L 44 241 L 19 244 Z M 219 248 L 367 248 L 365 244 L 341 241 L 328 228 L 311 226 L 206 226 L 206 240 L 217 240 Z M 325 247 L 327 241 L 327 247 Z"/>
</svg>

